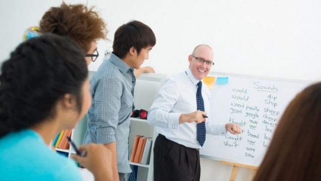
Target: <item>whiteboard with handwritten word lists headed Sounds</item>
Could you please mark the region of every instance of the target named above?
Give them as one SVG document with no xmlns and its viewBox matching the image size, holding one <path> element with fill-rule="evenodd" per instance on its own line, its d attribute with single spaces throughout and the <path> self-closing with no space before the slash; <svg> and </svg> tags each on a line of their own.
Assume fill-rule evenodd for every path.
<svg viewBox="0 0 321 181">
<path fill-rule="evenodd" d="M 215 72 L 208 76 L 216 77 L 210 89 L 211 120 L 239 124 L 242 134 L 206 134 L 201 157 L 259 166 L 286 106 L 311 82 Z"/>
</svg>

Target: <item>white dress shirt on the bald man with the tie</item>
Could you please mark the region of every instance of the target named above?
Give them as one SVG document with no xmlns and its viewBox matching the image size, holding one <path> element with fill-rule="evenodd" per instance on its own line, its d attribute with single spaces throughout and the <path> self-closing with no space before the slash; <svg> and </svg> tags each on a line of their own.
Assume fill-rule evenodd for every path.
<svg viewBox="0 0 321 181">
<path fill-rule="evenodd" d="M 179 125 L 182 113 L 191 113 L 197 110 L 196 91 L 197 80 L 188 68 L 185 72 L 169 77 L 157 93 L 150 110 L 147 122 L 156 126 L 156 132 L 167 139 L 189 148 L 199 149 L 196 140 L 196 123 Z M 210 119 L 210 92 L 202 84 L 204 112 L 207 113 L 206 133 L 211 135 L 226 135 L 225 124 L 217 124 Z"/>
</svg>

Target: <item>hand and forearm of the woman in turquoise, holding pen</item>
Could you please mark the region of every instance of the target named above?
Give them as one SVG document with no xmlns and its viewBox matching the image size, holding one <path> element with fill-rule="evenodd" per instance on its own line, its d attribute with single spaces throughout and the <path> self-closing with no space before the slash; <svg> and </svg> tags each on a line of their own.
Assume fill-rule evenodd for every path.
<svg viewBox="0 0 321 181">
<path fill-rule="evenodd" d="M 102 144 L 81 145 L 79 151 L 85 151 L 85 155 L 71 155 L 71 158 L 85 166 L 95 177 L 95 181 L 112 181 L 117 180 L 113 165 L 112 151 L 104 147 Z M 117 164 L 116 164 L 117 168 Z M 116 169 L 117 172 L 117 169 Z M 119 178 L 118 178 L 119 180 Z"/>
</svg>

